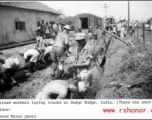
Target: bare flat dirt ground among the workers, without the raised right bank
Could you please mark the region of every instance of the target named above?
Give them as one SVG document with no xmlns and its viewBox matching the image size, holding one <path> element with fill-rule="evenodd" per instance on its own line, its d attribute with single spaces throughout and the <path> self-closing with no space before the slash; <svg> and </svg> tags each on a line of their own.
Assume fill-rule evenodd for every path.
<svg viewBox="0 0 152 120">
<path fill-rule="evenodd" d="M 72 46 L 75 44 L 71 40 L 70 45 Z M 11 56 L 13 54 L 19 53 L 20 50 L 25 48 L 31 48 L 35 46 L 35 44 L 27 45 L 19 48 L 13 48 L 10 50 L 4 50 L 5 54 L 8 56 Z M 75 53 L 75 47 L 71 47 L 70 50 Z M 65 61 L 66 67 L 68 67 L 69 64 L 71 64 L 70 59 L 66 59 Z M 44 85 L 46 85 L 48 82 L 51 81 L 50 76 L 51 67 L 48 67 L 47 69 L 40 70 L 33 75 L 30 76 L 30 78 L 25 78 L 24 75 L 20 76 L 19 78 L 19 86 L 14 86 L 11 90 L 6 91 L 4 94 L 0 96 L 1 99 L 34 99 L 37 93 L 43 88 Z M 94 99 L 97 91 L 100 89 L 100 80 L 103 72 L 99 72 L 97 68 L 94 68 L 94 74 L 93 74 L 93 84 L 92 84 L 92 90 L 87 92 L 87 99 Z M 22 79 L 21 79 L 22 78 Z M 69 82 L 74 82 L 72 79 L 68 80 Z M 76 95 L 75 99 L 82 99 L 83 97 Z"/>
</svg>

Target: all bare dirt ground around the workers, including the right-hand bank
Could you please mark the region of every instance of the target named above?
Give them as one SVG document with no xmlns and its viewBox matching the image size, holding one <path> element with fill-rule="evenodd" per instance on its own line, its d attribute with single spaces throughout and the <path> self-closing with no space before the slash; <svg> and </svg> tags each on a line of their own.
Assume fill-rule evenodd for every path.
<svg viewBox="0 0 152 120">
<path fill-rule="evenodd" d="M 149 37 L 152 35 L 149 34 Z M 148 37 L 148 38 L 149 38 Z M 152 46 L 151 39 L 143 47 L 142 38 L 128 37 L 135 47 L 130 48 L 124 43 L 113 39 L 108 49 L 105 69 L 98 71 L 94 68 L 93 85 L 87 93 L 86 99 L 151 99 L 152 98 Z M 71 41 L 71 46 L 75 42 Z M 34 45 L 24 46 L 26 48 Z M 21 47 L 19 49 L 23 49 Z M 18 48 L 2 51 L 8 55 L 17 53 Z M 75 53 L 75 47 L 70 48 Z M 10 52 L 11 51 L 11 52 Z M 70 59 L 65 61 L 66 67 Z M 51 67 L 37 71 L 29 78 L 21 80 L 20 86 L 14 86 L 3 93 L 1 99 L 34 99 L 37 93 L 51 81 Z M 23 77 L 22 77 L 23 79 Z M 73 81 L 72 79 L 68 80 Z M 75 99 L 83 99 L 81 96 Z"/>
</svg>

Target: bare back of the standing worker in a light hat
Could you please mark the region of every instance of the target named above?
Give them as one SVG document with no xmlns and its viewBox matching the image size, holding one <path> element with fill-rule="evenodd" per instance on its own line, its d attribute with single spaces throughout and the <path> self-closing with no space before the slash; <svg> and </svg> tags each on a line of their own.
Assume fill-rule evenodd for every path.
<svg viewBox="0 0 152 120">
<path fill-rule="evenodd" d="M 68 44 L 68 35 L 65 32 L 58 33 L 53 46 L 65 47 L 65 44 Z"/>
</svg>

